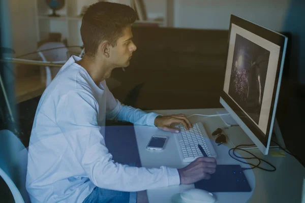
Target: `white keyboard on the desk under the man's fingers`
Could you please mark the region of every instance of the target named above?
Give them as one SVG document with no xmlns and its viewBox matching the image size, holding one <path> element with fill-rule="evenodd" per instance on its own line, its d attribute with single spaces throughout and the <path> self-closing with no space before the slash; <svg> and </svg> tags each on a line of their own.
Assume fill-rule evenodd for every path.
<svg viewBox="0 0 305 203">
<path fill-rule="evenodd" d="M 192 162 L 197 157 L 203 156 L 198 148 L 198 144 L 202 146 L 207 156 L 217 157 L 215 149 L 201 122 L 194 123 L 193 128 L 190 128 L 190 130 L 187 130 L 182 124 L 175 127 L 180 130 L 180 133 L 177 134 L 177 140 L 184 162 Z"/>
</svg>

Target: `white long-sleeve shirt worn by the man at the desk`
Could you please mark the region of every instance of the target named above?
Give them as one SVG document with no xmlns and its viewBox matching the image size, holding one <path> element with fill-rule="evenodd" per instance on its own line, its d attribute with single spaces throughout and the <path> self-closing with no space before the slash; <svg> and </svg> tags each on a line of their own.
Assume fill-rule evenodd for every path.
<svg viewBox="0 0 305 203">
<path fill-rule="evenodd" d="M 26 189 L 34 202 L 82 202 L 98 186 L 141 191 L 180 184 L 176 168 L 118 164 L 105 146 L 105 119 L 154 126 L 158 114 L 120 104 L 72 56 L 44 91 L 28 148 Z"/>
</svg>

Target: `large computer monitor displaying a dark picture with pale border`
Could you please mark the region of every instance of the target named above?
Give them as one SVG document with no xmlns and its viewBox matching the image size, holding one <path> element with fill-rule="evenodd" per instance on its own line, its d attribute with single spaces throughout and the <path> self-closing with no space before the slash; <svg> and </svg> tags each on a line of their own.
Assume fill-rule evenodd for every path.
<svg viewBox="0 0 305 203">
<path fill-rule="evenodd" d="M 275 117 L 287 37 L 231 15 L 228 44 L 220 103 L 255 146 L 267 155 L 274 129 L 281 139 Z"/>
</svg>

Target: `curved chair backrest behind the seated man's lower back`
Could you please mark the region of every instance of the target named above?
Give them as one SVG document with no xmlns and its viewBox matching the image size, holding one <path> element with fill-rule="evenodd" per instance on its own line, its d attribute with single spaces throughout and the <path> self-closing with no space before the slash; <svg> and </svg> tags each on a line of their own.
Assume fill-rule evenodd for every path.
<svg viewBox="0 0 305 203">
<path fill-rule="evenodd" d="M 10 188 L 15 202 L 30 202 L 25 188 L 27 149 L 15 134 L 0 130 L 0 176 Z"/>
</svg>

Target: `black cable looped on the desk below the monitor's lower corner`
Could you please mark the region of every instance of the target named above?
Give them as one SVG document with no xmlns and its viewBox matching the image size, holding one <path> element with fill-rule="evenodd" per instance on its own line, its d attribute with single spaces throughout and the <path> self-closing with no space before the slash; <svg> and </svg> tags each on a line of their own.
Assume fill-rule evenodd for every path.
<svg viewBox="0 0 305 203">
<path fill-rule="evenodd" d="M 254 166 L 254 167 L 250 167 L 250 168 L 242 168 L 242 171 L 249 170 L 249 169 L 253 169 L 253 168 L 260 168 L 261 170 L 268 171 L 268 172 L 273 172 L 273 171 L 276 171 L 276 170 L 277 170 L 277 168 L 276 168 L 274 165 L 272 165 L 271 163 L 269 163 L 268 161 L 265 161 L 264 159 L 258 158 L 257 156 L 255 156 L 254 154 L 252 154 L 251 152 L 249 152 L 249 151 L 247 151 L 247 150 L 245 150 L 245 149 L 240 149 L 240 148 L 238 148 L 238 147 L 240 147 L 240 146 L 253 146 L 253 145 L 238 145 L 238 146 L 236 146 L 236 147 L 234 147 L 234 148 L 231 148 L 231 149 L 229 150 L 229 155 L 230 155 L 233 159 L 235 159 L 235 160 L 237 160 L 237 161 L 239 161 L 239 162 L 246 163 L 246 164 L 249 164 L 249 165 Z M 234 157 L 230 154 L 231 150 L 233 150 L 233 155 L 236 156 L 237 158 L 243 158 L 243 159 L 257 159 L 259 162 L 258 162 L 258 164 L 254 165 L 254 164 L 249 163 L 249 162 L 241 161 L 241 160 L 239 160 L 239 159 L 237 159 L 237 158 L 234 158 Z M 237 155 L 235 154 L 235 150 L 241 150 L 241 151 L 248 152 L 249 154 L 251 154 L 251 155 L 254 156 L 254 157 L 241 157 L 241 156 L 237 156 Z M 263 161 L 263 162 L 269 164 L 271 167 L 273 167 L 273 169 L 270 170 L 270 169 L 268 169 L 268 168 L 262 168 L 262 167 L 260 167 L 259 165 L 261 164 L 261 161 Z"/>
</svg>

